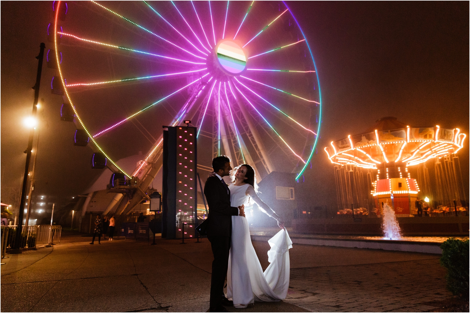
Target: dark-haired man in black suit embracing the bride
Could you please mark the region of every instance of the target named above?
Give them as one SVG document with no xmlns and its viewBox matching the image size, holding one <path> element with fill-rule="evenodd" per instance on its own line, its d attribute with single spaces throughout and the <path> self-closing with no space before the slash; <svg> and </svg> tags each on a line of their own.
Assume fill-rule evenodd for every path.
<svg viewBox="0 0 470 313">
<path fill-rule="evenodd" d="M 208 177 L 204 186 L 204 195 L 209 205 L 207 238 L 211 242 L 214 255 L 209 312 L 228 312 L 223 305 L 233 305 L 224 294 L 232 236 L 232 216 L 245 216 L 245 212 L 243 205 L 238 208 L 230 206 L 230 190 L 222 179 L 232 170 L 230 159 L 227 156 L 214 157 L 212 169 L 215 177 Z"/>
</svg>

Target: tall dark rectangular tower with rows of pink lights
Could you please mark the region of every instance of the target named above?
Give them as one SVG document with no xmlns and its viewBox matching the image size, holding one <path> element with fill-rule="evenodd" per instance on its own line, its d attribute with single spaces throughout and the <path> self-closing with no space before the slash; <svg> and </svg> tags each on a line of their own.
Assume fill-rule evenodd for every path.
<svg viewBox="0 0 470 313">
<path fill-rule="evenodd" d="M 183 224 L 197 218 L 196 127 L 167 127 L 163 132 L 162 238 L 182 238 Z M 195 225 L 184 227 L 185 238 L 195 237 Z"/>
</svg>

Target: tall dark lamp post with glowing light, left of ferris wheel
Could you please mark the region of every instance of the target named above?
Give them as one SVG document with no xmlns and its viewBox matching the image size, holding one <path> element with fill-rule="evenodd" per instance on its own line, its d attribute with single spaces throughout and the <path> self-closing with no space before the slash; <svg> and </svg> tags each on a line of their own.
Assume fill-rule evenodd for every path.
<svg viewBox="0 0 470 313">
<path fill-rule="evenodd" d="M 39 45 L 39 55 L 36 57 L 38 59 L 38 73 L 36 75 L 36 84 L 34 85 L 34 102 L 32 104 L 32 117 L 36 117 L 36 112 L 38 110 L 38 98 L 39 98 L 39 85 L 41 83 L 41 72 L 42 72 L 42 61 L 44 59 L 44 49 L 46 45 L 41 43 Z M 18 226 L 16 227 L 16 236 L 15 236 L 15 245 L 13 246 L 10 253 L 21 253 L 20 244 L 21 244 L 21 235 L 23 232 L 23 213 L 24 213 L 24 202 L 26 200 L 26 185 L 28 183 L 28 173 L 29 165 L 31 161 L 31 150 L 32 150 L 32 140 L 34 137 L 34 127 L 31 127 L 30 136 L 28 141 L 28 147 L 24 150 L 26 153 L 26 164 L 24 166 L 24 177 L 23 177 L 23 188 L 21 190 L 21 201 L 20 201 L 20 211 L 18 212 Z M 31 205 L 31 199 L 29 199 Z"/>
</svg>

